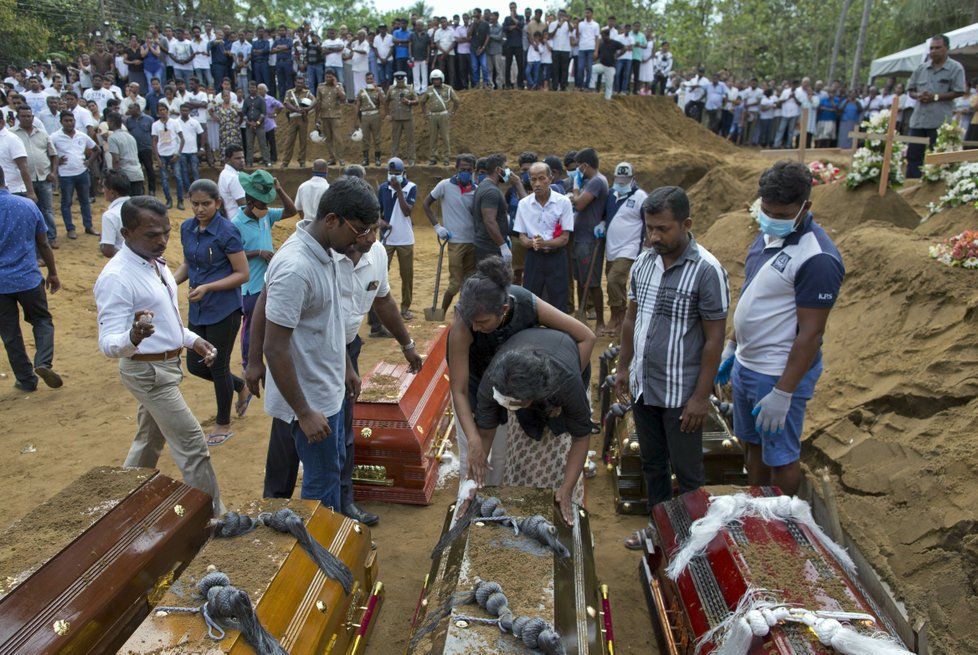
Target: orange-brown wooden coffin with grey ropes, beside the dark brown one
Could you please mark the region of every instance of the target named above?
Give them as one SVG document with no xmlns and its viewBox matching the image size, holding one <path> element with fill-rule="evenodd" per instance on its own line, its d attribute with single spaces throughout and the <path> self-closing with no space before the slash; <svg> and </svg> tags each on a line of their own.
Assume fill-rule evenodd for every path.
<svg viewBox="0 0 978 655">
<path fill-rule="evenodd" d="M 302 516 L 312 537 L 350 567 L 354 584 L 349 595 L 339 582 L 322 573 L 292 535 L 260 525 L 239 537 L 211 539 L 157 607 L 199 607 L 204 601 L 197 593 L 197 583 L 216 569 L 248 593 L 259 622 L 286 652 L 362 652 L 383 602 L 369 529 L 318 501 L 266 499 L 242 512 L 256 517 L 281 507 Z M 254 653 L 237 631 L 229 630 L 223 639 L 214 640 L 199 614 L 166 610 L 154 611 L 119 652 Z"/>
</svg>

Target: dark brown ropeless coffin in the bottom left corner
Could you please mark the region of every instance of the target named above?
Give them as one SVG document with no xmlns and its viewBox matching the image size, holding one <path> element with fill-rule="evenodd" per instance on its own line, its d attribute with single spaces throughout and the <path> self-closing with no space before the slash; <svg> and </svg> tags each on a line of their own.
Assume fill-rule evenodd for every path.
<svg viewBox="0 0 978 655">
<path fill-rule="evenodd" d="M 0 653 L 114 653 L 210 536 L 211 498 L 96 468 L 0 534 Z"/>
</svg>

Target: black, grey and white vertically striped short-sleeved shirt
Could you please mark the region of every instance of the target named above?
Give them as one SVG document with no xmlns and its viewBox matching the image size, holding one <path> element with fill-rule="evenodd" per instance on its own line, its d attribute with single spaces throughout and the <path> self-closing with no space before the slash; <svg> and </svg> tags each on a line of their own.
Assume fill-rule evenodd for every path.
<svg viewBox="0 0 978 655">
<path fill-rule="evenodd" d="M 668 269 L 655 250 L 640 254 L 632 265 L 628 297 L 638 305 L 629 370 L 632 397 L 655 407 L 685 406 L 699 378 L 706 342 L 702 322 L 727 317 L 727 272 L 690 235 L 686 250 Z"/>
</svg>

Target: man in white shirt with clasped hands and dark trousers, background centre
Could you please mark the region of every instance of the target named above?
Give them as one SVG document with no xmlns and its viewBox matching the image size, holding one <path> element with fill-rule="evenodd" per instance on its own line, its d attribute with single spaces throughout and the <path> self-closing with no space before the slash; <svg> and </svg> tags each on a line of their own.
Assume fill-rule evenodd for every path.
<svg viewBox="0 0 978 655">
<path fill-rule="evenodd" d="M 538 298 L 566 312 L 570 301 L 567 279 L 567 241 L 574 231 L 574 207 L 570 198 L 553 191 L 550 166 L 537 162 L 530 166 L 533 193 L 516 208 L 513 230 L 526 249 L 523 286 Z"/>
</svg>

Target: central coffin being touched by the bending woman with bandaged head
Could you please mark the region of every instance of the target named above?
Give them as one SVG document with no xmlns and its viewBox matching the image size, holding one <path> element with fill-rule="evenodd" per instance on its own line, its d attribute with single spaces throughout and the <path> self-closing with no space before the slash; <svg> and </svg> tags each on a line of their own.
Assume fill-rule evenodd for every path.
<svg viewBox="0 0 978 655">
<path fill-rule="evenodd" d="M 457 605 L 437 620 L 437 626 L 420 636 L 435 621 L 438 609 L 456 592 L 472 589 L 476 578 L 498 582 L 517 616 L 541 618 L 561 636 L 568 655 L 611 652 L 610 605 L 607 587 L 599 586 L 595 571 L 589 515 L 579 508 L 573 528 L 559 518 L 553 491 L 526 487 L 487 487 L 483 496 L 496 496 L 512 515 L 540 514 L 557 528 L 557 537 L 570 551 L 558 558 L 552 550 L 511 528 L 474 520 L 432 561 L 425 577 L 412 621 L 411 655 L 528 653 L 522 642 L 494 625 L 459 624 L 458 616 L 492 618 L 478 605 Z M 455 506 L 449 507 L 442 528 L 451 527 Z"/>
</svg>

